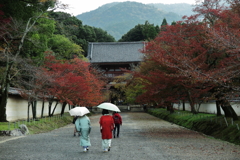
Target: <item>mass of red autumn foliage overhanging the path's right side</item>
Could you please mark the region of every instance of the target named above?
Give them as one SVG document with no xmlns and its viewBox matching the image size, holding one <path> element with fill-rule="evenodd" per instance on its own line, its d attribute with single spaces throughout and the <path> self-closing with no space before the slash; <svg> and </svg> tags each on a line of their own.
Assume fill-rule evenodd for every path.
<svg viewBox="0 0 240 160">
<path fill-rule="evenodd" d="M 144 63 L 140 71 L 133 72 L 143 79 L 146 90 L 138 97 L 140 102 L 186 99 L 194 109 L 197 100 L 211 96 L 212 88 L 229 89 L 226 82 L 239 76 L 239 9 L 233 7 L 239 1 L 230 10 L 218 2 L 206 0 L 195 9 L 199 14 L 166 26 L 147 44 Z M 204 21 L 198 20 L 201 15 Z M 235 19 L 228 23 L 230 17 Z M 223 28 L 230 32 L 219 32 Z M 231 46 L 226 47 L 216 35 Z"/>
</svg>

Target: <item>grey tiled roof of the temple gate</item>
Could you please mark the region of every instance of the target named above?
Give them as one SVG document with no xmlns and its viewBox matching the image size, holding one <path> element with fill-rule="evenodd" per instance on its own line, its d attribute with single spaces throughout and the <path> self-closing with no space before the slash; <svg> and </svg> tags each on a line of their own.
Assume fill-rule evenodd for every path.
<svg viewBox="0 0 240 160">
<path fill-rule="evenodd" d="M 89 42 L 87 58 L 91 63 L 140 62 L 144 42 Z"/>
</svg>

